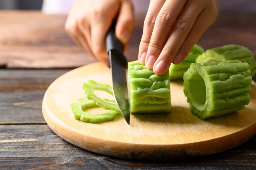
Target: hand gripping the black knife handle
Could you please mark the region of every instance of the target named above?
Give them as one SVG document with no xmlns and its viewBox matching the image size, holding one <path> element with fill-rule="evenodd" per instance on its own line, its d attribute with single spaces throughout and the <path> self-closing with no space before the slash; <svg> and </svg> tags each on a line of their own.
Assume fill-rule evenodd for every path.
<svg viewBox="0 0 256 170">
<path fill-rule="evenodd" d="M 108 60 L 105 37 L 117 16 L 116 37 L 126 44 L 134 25 L 131 0 L 75 0 L 65 30 L 98 60 Z"/>
</svg>

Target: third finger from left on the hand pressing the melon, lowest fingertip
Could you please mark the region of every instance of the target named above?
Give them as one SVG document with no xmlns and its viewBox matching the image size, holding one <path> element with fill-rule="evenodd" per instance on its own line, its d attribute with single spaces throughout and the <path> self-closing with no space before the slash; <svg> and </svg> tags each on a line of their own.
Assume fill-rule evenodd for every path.
<svg viewBox="0 0 256 170">
<path fill-rule="evenodd" d="M 198 1 L 199 2 L 199 1 Z M 170 37 L 164 45 L 159 57 L 157 58 L 153 71 L 156 74 L 165 74 L 169 69 L 172 60 L 175 58 L 180 46 L 186 39 L 196 18 L 204 10 L 205 4 L 188 1 L 184 6 L 180 16 L 175 21 Z M 182 58 L 179 53 L 176 57 Z"/>
</svg>

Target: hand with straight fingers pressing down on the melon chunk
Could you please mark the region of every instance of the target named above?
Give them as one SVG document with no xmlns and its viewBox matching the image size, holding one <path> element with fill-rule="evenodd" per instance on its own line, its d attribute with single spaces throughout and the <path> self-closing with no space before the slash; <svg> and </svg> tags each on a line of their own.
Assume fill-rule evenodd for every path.
<svg viewBox="0 0 256 170">
<path fill-rule="evenodd" d="M 151 0 L 140 41 L 139 61 L 156 74 L 179 64 L 216 20 L 219 0 Z"/>
</svg>

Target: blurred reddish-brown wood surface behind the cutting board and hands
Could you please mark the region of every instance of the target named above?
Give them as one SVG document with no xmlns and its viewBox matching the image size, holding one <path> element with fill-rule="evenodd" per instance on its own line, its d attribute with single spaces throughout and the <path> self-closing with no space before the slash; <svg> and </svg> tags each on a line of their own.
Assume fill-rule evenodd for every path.
<svg viewBox="0 0 256 170">
<path fill-rule="evenodd" d="M 29 18 L 29 19 L 27 19 Z M 135 27 L 125 53 L 138 58 L 145 13 L 135 14 Z M 39 11 L 0 11 L 0 65 L 11 68 L 79 67 L 96 60 L 76 46 L 64 30 L 65 15 Z M 205 49 L 240 44 L 256 57 L 256 13 L 220 12 L 216 22 L 199 39 Z"/>
</svg>

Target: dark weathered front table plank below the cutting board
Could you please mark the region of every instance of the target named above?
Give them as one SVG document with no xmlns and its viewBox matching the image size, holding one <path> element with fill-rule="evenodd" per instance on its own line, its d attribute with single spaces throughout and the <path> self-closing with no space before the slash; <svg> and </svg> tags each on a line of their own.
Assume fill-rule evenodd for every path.
<svg viewBox="0 0 256 170">
<path fill-rule="evenodd" d="M 201 158 L 142 161 L 113 158 L 83 150 L 59 138 L 46 124 L 0 125 L 0 134 L 0 169 L 256 168 L 256 137 L 236 148 Z"/>
</svg>

